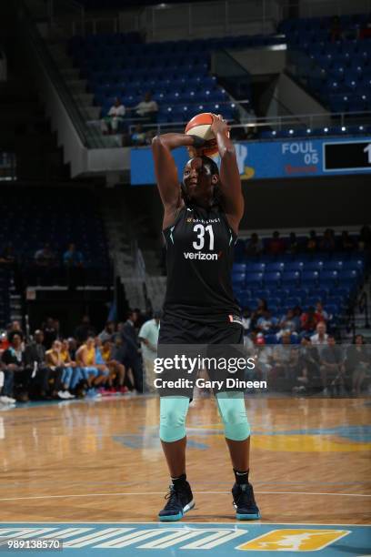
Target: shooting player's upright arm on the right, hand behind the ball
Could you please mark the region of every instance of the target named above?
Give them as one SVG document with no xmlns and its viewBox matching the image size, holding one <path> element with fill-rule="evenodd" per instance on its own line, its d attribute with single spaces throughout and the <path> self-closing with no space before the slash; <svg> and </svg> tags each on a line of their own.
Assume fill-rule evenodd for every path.
<svg viewBox="0 0 371 557">
<path fill-rule="evenodd" d="M 228 137 L 228 126 L 222 116 L 214 116 L 211 129 L 216 137 L 221 159 L 219 187 L 223 197 L 223 208 L 231 226 L 237 231 L 244 214 L 244 196 L 242 195 L 235 147 Z"/>
</svg>

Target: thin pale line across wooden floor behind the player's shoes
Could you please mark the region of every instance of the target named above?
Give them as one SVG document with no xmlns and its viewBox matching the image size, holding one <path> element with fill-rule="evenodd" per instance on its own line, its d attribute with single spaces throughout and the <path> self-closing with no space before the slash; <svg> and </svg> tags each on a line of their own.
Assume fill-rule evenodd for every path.
<svg viewBox="0 0 371 557">
<path fill-rule="evenodd" d="M 314 491 L 255 491 L 263 495 L 329 495 L 334 497 L 371 497 L 371 494 L 363 493 L 318 493 Z M 229 495 L 229 491 L 194 491 L 198 495 Z M 163 495 L 164 491 L 146 491 L 146 495 Z M 6 497 L 0 501 L 25 501 L 36 499 L 66 499 L 72 497 L 122 497 L 143 495 L 143 491 L 132 491 L 130 493 L 81 493 L 81 494 L 65 494 L 65 495 L 33 495 L 30 497 Z M 12 522 L 13 523 L 13 522 Z M 27 522 L 28 523 L 28 522 Z"/>
</svg>

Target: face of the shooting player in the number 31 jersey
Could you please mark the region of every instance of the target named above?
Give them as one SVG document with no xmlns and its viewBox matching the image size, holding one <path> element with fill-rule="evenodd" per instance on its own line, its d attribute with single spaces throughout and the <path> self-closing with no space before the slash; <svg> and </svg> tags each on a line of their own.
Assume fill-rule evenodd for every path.
<svg viewBox="0 0 371 557">
<path fill-rule="evenodd" d="M 218 177 L 212 174 L 210 165 L 204 163 L 202 158 L 191 158 L 186 163 L 183 183 L 190 199 L 197 201 L 209 198 L 211 200 L 217 179 Z"/>
</svg>

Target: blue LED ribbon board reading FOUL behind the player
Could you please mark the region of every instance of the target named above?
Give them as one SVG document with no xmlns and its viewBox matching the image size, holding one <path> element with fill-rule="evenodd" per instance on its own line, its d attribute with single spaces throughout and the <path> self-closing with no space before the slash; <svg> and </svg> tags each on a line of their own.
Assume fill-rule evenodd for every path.
<svg viewBox="0 0 371 557">
<path fill-rule="evenodd" d="M 235 148 L 241 180 L 371 174 L 371 137 L 238 141 Z M 173 155 L 181 181 L 188 153 L 181 148 Z M 130 158 L 131 184 L 155 184 L 151 150 L 132 148 Z"/>
</svg>

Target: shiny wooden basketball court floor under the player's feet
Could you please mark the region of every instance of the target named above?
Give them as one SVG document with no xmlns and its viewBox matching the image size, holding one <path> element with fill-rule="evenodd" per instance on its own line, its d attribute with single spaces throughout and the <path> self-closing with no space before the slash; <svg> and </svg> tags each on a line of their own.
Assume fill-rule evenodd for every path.
<svg viewBox="0 0 371 557">
<path fill-rule="evenodd" d="M 162 548 L 155 554 L 165 555 L 172 547 L 172 554 L 185 547 L 186 542 L 181 543 L 185 532 L 188 538 L 202 531 L 216 539 L 216 529 L 225 532 L 218 533 L 219 542 L 223 536 L 230 539 L 226 547 L 212 544 L 214 549 L 208 549 L 213 555 L 231 554 L 235 549 L 276 554 L 275 543 L 280 551 L 285 547 L 310 551 L 316 549 L 316 540 L 323 542 L 324 536 L 331 535 L 335 538 L 326 538 L 321 546 L 323 554 L 340 554 L 336 548 L 344 548 L 347 555 L 369 552 L 371 402 L 254 398 L 246 400 L 246 406 L 253 431 L 251 481 L 261 521 L 235 519 L 230 493 L 234 477 L 216 404 L 202 399 L 190 408 L 187 420 L 187 475 L 196 509 L 170 526 L 157 525 L 156 519 L 169 482 L 157 435 L 157 398 L 34 403 L 1 411 L 0 535 L 53 537 L 55 532 L 55 537 L 59 534 L 66 540 L 66 548 L 69 544 L 85 552 L 94 547 L 91 540 L 99 540 L 111 549 L 127 547 L 132 553 L 143 552 L 143 547 L 154 552 Z M 123 523 L 129 523 L 131 533 Z M 309 530 L 308 525 L 312 525 Z M 92 530 L 94 536 L 84 533 L 90 543 L 74 546 L 72 534 L 64 533 L 67 527 L 79 539 Z M 304 542 L 285 546 L 293 529 L 296 538 L 301 532 Z M 164 531 L 170 537 L 167 545 Z M 162 545 L 135 545 L 134 541 L 151 538 L 154 532 L 162 532 Z M 286 542 L 280 532 L 286 532 Z M 121 545 L 117 535 L 119 540 L 126 536 Z M 111 545 L 102 542 L 107 537 Z M 257 538 L 268 542 L 254 542 Z M 306 543 L 309 549 L 303 549 Z M 207 549 L 189 544 L 192 555 Z M 100 554 L 96 551 L 95 555 Z M 289 549 L 286 553 L 290 554 Z"/>
</svg>

